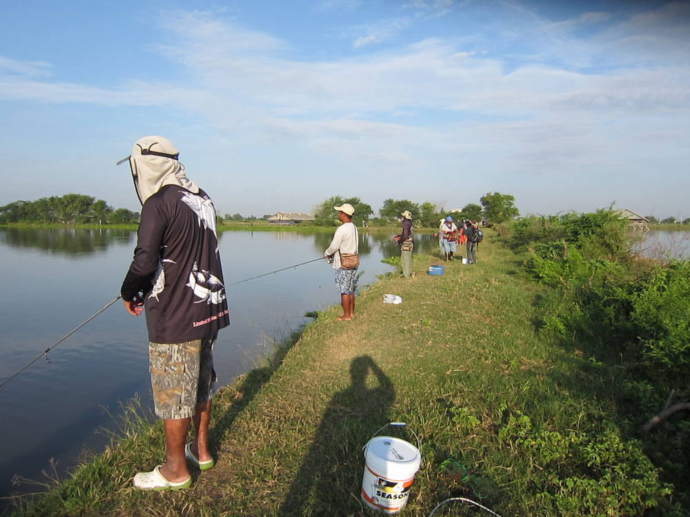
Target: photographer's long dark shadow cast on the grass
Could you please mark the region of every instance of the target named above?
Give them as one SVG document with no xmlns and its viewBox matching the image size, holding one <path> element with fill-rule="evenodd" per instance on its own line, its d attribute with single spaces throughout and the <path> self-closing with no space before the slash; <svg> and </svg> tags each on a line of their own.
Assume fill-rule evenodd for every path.
<svg viewBox="0 0 690 517">
<path fill-rule="evenodd" d="M 377 387 L 366 380 L 373 374 Z M 350 387 L 333 396 L 314 441 L 280 509 L 281 515 L 352 514 L 359 509 L 362 447 L 388 422 L 395 390 L 369 356 L 350 365 Z M 337 510 L 335 510 L 337 509 Z"/>
</svg>

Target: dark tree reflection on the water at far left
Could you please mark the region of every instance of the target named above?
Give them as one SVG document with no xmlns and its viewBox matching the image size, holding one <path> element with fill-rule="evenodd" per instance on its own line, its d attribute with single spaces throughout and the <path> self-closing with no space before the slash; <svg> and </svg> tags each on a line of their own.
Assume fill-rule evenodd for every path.
<svg viewBox="0 0 690 517">
<path fill-rule="evenodd" d="M 113 242 L 129 242 L 131 230 L 82 228 L 2 228 L 0 238 L 13 247 L 32 247 L 65 255 L 89 255 L 106 250 Z"/>
</svg>

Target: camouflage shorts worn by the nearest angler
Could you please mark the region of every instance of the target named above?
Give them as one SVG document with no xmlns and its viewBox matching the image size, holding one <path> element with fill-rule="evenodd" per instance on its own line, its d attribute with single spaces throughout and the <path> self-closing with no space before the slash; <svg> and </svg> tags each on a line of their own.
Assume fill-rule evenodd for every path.
<svg viewBox="0 0 690 517">
<path fill-rule="evenodd" d="M 216 392 L 217 333 L 184 343 L 148 343 L 153 405 L 160 418 L 188 418 Z"/>
</svg>

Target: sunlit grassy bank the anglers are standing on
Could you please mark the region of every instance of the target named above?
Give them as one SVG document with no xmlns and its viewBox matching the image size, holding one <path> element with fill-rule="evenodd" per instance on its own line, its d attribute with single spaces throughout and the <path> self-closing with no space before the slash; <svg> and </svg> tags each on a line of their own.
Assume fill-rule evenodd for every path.
<svg viewBox="0 0 690 517">
<path fill-rule="evenodd" d="M 406 515 L 454 496 L 503 517 L 641 516 L 667 504 L 616 422 L 624 367 L 538 332 L 543 288 L 492 230 L 477 256 L 428 276 L 438 257 L 415 255 L 415 278 L 388 274 L 366 288 L 353 321 L 336 322 L 331 307 L 235 379 L 215 399 L 217 465 L 193 472 L 187 491 L 131 487 L 137 470 L 164 460 L 160 423 L 132 410 L 124 438 L 46 496 L 20 499 L 17 515 L 374 515 L 359 503 L 362 447 L 390 421 L 422 442 Z M 403 303 L 382 303 L 386 293 Z M 449 458 L 471 477 L 449 472 Z M 453 511 L 473 514 L 437 515 Z"/>
</svg>

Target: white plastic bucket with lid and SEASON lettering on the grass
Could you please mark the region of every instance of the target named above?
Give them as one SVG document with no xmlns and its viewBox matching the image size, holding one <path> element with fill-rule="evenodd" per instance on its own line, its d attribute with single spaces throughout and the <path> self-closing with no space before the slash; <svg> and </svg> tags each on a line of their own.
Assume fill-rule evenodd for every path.
<svg viewBox="0 0 690 517">
<path fill-rule="evenodd" d="M 391 422 L 384 427 L 388 425 L 406 424 Z M 383 511 L 384 514 L 395 514 L 405 507 L 415 474 L 422 464 L 419 445 L 419 438 L 415 447 L 408 441 L 393 436 L 375 436 L 364 445 L 362 503 Z"/>
</svg>

